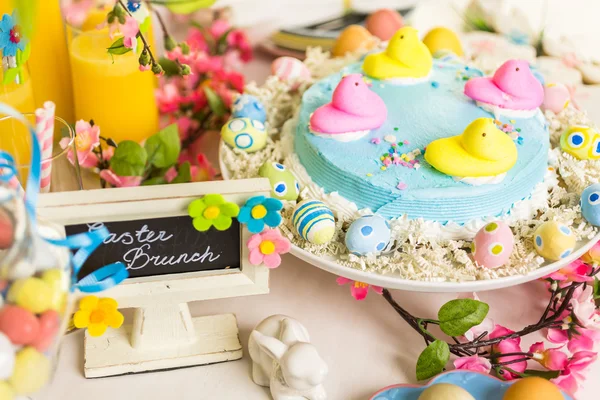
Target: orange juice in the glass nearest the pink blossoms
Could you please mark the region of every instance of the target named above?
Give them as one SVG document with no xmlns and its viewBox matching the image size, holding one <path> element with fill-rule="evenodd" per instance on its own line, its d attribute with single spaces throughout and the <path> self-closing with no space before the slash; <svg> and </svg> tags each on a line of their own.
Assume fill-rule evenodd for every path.
<svg viewBox="0 0 600 400">
<path fill-rule="evenodd" d="M 139 70 L 139 55 L 108 54 L 113 40 L 106 29 L 68 29 L 76 119 L 93 119 L 102 135 L 116 142 L 139 142 L 156 133 L 154 75 Z"/>
</svg>

